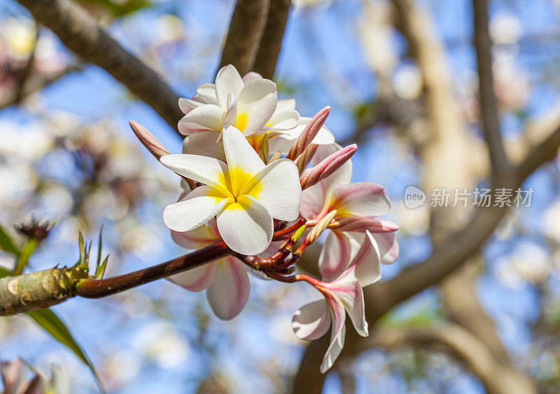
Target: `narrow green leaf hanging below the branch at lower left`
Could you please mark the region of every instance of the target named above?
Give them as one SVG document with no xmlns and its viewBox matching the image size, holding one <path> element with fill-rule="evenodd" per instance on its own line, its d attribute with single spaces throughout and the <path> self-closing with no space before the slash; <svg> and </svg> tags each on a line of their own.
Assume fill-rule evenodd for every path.
<svg viewBox="0 0 560 394">
<path fill-rule="evenodd" d="M 78 345 L 76 340 L 73 339 L 71 332 L 68 328 L 66 328 L 64 322 L 62 322 L 62 320 L 60 320 L 60 318 L 50 309 L 38 309 L 37 311 L 29 311 L 27 314 L 31 316 L 31 318 L 35 320 L 35 322 L 40 325 L 43 330 L 48 332 L 52 338 L 68 347 L 78 356 L 78 358 L 80 358 L 80 360 L 85 363 L 85 365 L 87 365 L 87 367 L 90 367 L 97 382 L 97 386 L 99 386 L 99 389 L 105 393 L 105 389 L 103 388 L 103 384 L 101 379 L 99 379 L 99 375 L 97 374 L 95 367 L 90 359 L 87 358 L 87 355 L 85 355 L 82 348 L 80 348 L 80 345 Z"/>
</svg>

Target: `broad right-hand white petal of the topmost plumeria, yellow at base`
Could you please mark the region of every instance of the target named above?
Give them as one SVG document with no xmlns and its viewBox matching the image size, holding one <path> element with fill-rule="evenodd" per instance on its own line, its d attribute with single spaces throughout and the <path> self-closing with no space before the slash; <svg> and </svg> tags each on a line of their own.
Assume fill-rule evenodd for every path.
<svg viewBox="0 0 560 394">
<path fill-rule="evenodd" d="M 268 79 L 255 79 L 239 93 L 237 114 L 246 114 L 244 135 L 251 135 L 265 127 L 276 109 L 276 83 Z"/>
</svg>

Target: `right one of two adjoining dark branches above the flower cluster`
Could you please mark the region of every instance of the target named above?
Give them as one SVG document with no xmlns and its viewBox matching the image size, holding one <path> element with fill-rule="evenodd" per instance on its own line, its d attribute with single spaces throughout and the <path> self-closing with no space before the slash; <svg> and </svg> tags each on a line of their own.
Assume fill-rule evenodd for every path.
<svg viewBox="0 0 560 394">
<path fill-rule="evenodd" d="M 274 78 L 291 5 L 291 0 L 270 0 L 265 32 L 253 65 L 253 71 L 267 79 Z"/>
</svg>

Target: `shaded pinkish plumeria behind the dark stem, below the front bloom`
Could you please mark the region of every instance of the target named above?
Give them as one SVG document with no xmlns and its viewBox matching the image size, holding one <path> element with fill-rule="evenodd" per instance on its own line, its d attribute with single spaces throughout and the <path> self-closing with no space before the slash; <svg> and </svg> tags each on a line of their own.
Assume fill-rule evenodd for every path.
<svg viewBox="0 0 560 394">
<path fill-rule="evenodd" d="M 221 240 L 216 220 L 197 229 L 179 233 L 172 231 L 175 243 L 185 249 L 196 250 Z M 247 266 L 239 259 L 227 256 L 195 269 L 169 277 L 173 283 L 190 290 L 206 290 L 208 304 L 218 318 L 235 318 L 247 303 L 251 284 Z"/>
</svg>

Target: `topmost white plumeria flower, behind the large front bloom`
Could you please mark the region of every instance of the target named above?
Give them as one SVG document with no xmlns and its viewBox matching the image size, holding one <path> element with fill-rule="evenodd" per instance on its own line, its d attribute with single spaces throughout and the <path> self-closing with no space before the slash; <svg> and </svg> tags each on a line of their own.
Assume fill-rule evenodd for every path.
<svg viewBox="0 0 560 394">
<path fill-rule="evenodd" d="M 300 118 L 291 105 L 279 105 L 276 83 L 254 72 L 241 79 L 231 64 L 220 69 L 216 83 L 200 86 L 192 100 L 181 98 L 179 107 L 185 114 L 178 125 L 183 135 L 221 133 L 230 124 L 248 137 L 265 129 L 295 128 Z"/>
</svg>

